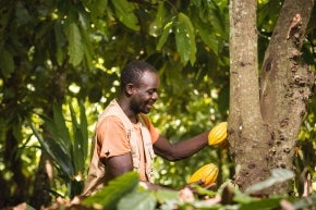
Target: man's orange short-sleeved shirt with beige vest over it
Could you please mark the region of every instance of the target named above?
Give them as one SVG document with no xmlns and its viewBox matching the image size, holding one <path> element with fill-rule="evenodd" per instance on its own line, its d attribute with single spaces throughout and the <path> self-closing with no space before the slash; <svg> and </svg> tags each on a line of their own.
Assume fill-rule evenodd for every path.
<svg viewBox="0 0 316 210">
<path fill-rule="evenodd" d="M 137 161 L 133 162 L 133 166 L 135 169 L 135 165 L 137 165 L 136 170 L 139 173 L 141 181 L 148 181 L 147 175 L 148 170 L 151 170 L 151 160 L 149 160 L 150 162 L 145 161 L 148 160 L 146 158 L 150 156 L 150 153 L 147 152 L 154 151 L 151 147 L 148 147 L 148 145 L 145 148 L 142 134 L 144 134 L 144 138 L 146 138 L 144 140 L 146 144 L 148 141 L 150 143 L 150 140 L 155 144 L 159 138 L 159 132 L 154 127 L 145 114 L 139 114 L 139 118 L 142 123 L 131 124 L 132 127 L 130 127 L 130 125 L 129 127 L 125 127 L 125 121 L 127 121 L 127 123 L 130 121 L 116 100 L 112 100 L 106 110 L 99 115 L 95 141 L 93 145 L 94 152 L 92 153 L 92 162 L 85 187 L 82 193 L 83 197 L 89 196 L 107 185 L 110 177 L 108 176 L 107 166 L 104 164 L 102 160 L 111 157 L 123 156 L 131 152 L 133 161 Z M 142 127 L 145 126 L 144 124 L 146 125 L 146 128 Z M 133 146 L 133 152 L 131 145 Z M 137 147 L 135 148 L 135 146 Z M 134 149 L 138 150 L 135 152 Z M 145 150 L 147 156 L 144 153 Z M 153 157 L 154 153 L 149 158 Z"/>
</svg>

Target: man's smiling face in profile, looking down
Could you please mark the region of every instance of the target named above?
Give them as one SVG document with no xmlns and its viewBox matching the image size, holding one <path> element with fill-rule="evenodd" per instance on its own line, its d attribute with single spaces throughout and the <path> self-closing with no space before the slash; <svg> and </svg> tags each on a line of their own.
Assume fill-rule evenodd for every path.
<svg viewBox="0 0 316 210">
<path fill-rule="evenodd" d="M 136 113 L 148 113 L 158 99 L 159 78 L 154 72 L 144 72 L 141 83 L 134 86 L 131 109 Z"/>
</svg>

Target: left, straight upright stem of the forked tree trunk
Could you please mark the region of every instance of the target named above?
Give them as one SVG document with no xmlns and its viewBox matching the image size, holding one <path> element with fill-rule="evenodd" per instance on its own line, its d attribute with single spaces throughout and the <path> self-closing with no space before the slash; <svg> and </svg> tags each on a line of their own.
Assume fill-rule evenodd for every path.
<svg viewBox="0 0 316 210">
<path fill-rule="evenodd" d="M 242 190 L 265 180 L 268 133 L 259 103 L 256 0 L 230 1 L 230 152 Z"/>
</svg>

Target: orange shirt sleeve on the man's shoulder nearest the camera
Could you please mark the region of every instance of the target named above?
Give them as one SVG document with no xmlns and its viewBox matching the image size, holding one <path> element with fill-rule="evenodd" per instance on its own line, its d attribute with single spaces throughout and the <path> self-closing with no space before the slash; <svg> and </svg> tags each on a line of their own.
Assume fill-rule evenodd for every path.
<svg viewBox="0 0 316 210">
<path fill-rule="evenodd" d="M 97 143 L 100 159 L 131 152 L 126 131 L 118 116 L 106 116 L 98 124 Z"/>
</svg>

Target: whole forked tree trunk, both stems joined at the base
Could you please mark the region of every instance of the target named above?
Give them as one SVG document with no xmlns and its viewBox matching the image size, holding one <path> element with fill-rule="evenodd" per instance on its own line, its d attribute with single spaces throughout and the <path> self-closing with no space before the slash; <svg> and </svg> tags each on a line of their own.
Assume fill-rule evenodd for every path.
<svg viewBox="0 0 316 210">
<path fill-rule="evenodd" d="M 285 0 L 265 54 L 258 83 L 255 0 L 230 1 L 230 152 L 242 190 L 269 176 L 271 169 L 293 170 L 295 141 L 314 75 L 301 63 L 301 47 L 313 0 Z M 289 193 L 291 183 L 260 195 Z"/>
</svg>

